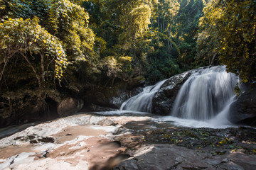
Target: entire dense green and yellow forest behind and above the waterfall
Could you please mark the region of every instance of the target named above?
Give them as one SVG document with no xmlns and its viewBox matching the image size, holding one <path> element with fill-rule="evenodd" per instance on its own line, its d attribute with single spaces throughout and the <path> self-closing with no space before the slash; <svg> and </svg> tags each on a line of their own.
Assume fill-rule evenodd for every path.
<svg viewBox="0 0 256 170">
<path fill-rule="evenodd" d="M 2 117 L 215 64 L 256 81 L 255 0 L 0 0 L 0 17 Z"/>
</svg>

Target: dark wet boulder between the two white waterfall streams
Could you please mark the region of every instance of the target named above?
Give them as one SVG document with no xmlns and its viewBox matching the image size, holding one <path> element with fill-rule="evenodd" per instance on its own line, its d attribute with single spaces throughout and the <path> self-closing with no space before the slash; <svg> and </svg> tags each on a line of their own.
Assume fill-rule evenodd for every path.
<svg viewBox="0 0 256 170">
<path fill-rule="evenodd" d="M 171 113 L 179 89 L 181 89 L 182 84 L 191 76 L 193 71 L 177 74 L 164 82 L 159 91 L 154 95 L 151 108 L 152 113 L 158 115 L 169 115 Z"/>
</svg>

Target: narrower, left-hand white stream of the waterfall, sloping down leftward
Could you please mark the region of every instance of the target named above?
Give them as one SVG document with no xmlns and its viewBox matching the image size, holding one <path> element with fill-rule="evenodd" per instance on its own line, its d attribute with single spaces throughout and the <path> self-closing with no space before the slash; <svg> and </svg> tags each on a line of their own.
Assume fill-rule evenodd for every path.
<svg viewBox="0 0 256 170">
<path fill-rule="evenodd" d="M 161 85 L 164 84 L 166 80 L 159 81 L 154 86 L 146 86 L 142 93 L 137 94 L 129 98 L 127 101 L 122 103 L 120 108 L 121 111 L 140 111 L 140 112 L 151 112 L 152 99 L 154 94 L 160 89 Z"/>
</svg>

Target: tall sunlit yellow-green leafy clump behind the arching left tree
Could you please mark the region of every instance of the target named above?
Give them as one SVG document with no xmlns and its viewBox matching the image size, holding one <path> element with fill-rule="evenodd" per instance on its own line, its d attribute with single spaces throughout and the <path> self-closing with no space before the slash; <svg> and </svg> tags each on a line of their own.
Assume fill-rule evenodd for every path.
<svg viewBox="0 0 256 170">
<path fill-rule="evenodd" d="M 88 13 L 68 0 L 55 1 L 49 12 L 50 30 L 63 42 L 70 61 L 90 62 L 95 35 L 88 27 Z M 51 29 L 53 28 L 53 30 Z"/>
</svg>

